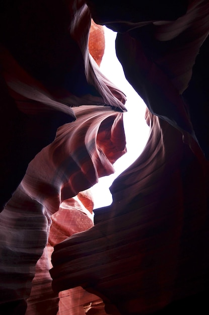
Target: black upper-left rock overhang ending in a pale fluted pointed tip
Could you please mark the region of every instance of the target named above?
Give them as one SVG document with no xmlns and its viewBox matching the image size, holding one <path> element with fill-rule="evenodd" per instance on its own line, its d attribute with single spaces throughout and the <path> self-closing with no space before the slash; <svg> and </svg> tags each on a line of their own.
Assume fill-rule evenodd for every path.
<svg viewBox="0 0 209 315">
<path fill-rule="evenodd" d="M 91 16 L 84 2 L 3 3 L 1 134 L 8 137 L 1 139 L 1 211 L 33 157 L 53 141 L 59 126 L 76 119 L 72 107 L 125 110 L 125 96 L 88 53 Z"/>
</svg>

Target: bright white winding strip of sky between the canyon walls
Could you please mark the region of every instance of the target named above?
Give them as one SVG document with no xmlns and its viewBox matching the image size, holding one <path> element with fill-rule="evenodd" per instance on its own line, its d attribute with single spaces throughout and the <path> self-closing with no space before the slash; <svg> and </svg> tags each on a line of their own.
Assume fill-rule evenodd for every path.
<svg viewBox="0 0 209 315">
<path fill-rule="evenodd" d="M 149 136 L 149 127 L 145 121 L 146 105 L 126 81 L 122 66 L 115 54 L 116 35 L 117 33 L 105 27 L 105 53 L 100 70 L 127 98 L 125 103 L 127 112 L 123 115 L 127 153 L 115 162 L 114 174 L 100 178 L 99 183 L 91 188 L 94 197 L 94 209 L 112 203 L 109 187 L 114 179 L 142 153 Z"/>
</svg>

